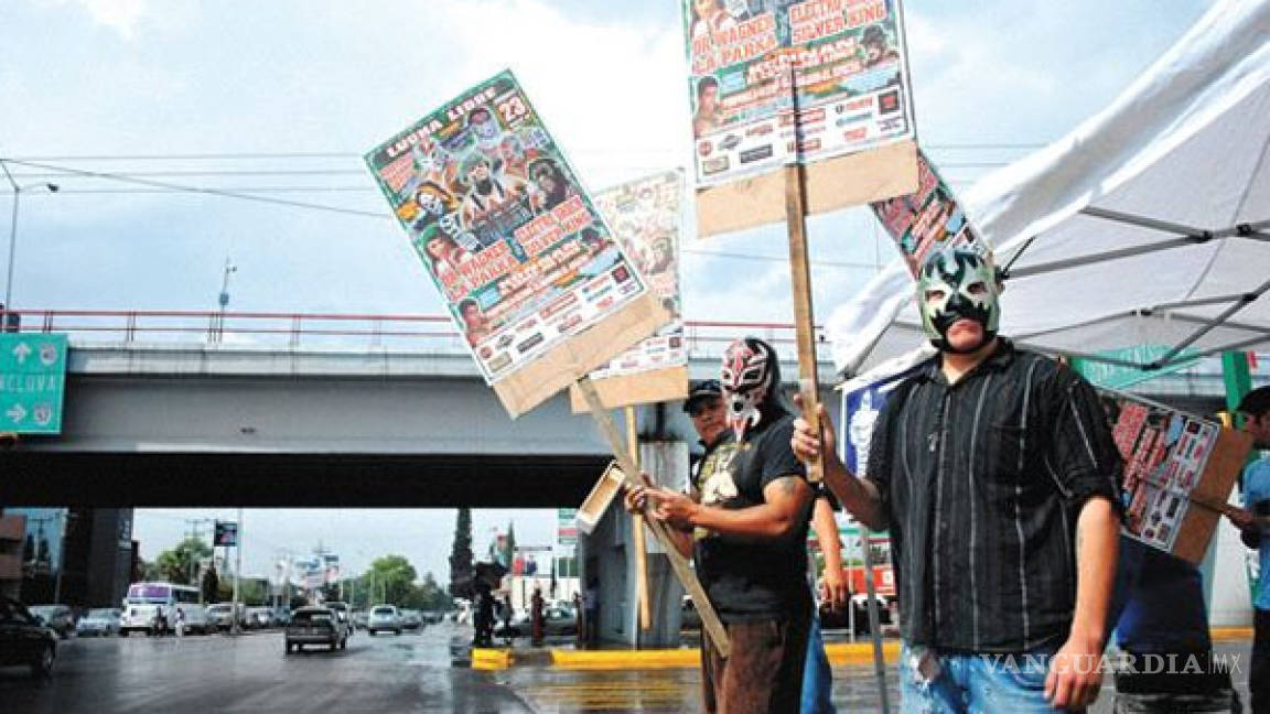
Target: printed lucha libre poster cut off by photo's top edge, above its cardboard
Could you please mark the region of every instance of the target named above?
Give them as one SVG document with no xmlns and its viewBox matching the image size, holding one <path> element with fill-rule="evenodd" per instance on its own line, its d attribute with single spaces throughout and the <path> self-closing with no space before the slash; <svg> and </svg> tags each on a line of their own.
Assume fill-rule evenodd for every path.
<svg viewBox="0 0 1270 714">
<path fill-rule="evenodd" d="M 899 0 L 681 3 L 698 185 L 916 135 Z"/>
</svg>

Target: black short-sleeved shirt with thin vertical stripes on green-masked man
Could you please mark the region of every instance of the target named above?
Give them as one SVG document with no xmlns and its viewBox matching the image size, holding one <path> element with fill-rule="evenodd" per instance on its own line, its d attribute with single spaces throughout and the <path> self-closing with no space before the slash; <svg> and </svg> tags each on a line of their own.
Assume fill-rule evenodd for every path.
<svg viewBox="0 0 1270 714">
<path fill-rule="evenodd" d="M 890 517 L 907 642 L 1024 652 L 1067 638 L 1077 515 L 1120 488 L 1088 382 L 1006 339 L 951 386 L 932 360 L 888 400 L 866 473 Z"/>
</svg>

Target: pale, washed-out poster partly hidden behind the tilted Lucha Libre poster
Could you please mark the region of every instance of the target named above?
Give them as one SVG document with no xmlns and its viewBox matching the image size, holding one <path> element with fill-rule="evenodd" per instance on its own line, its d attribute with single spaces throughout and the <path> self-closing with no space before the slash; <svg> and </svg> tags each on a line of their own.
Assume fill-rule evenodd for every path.
<svg viewBox="0 0 1270 714">
<path fill-rule="evenodd" d="M 688 363 L 679 302 L 679 226 L 683 222 L 683 173 L 664 172 L 594 196 L 622 252 L 639 266 L 653 293 L 673 321 L 591 374 L 593 380 Z"/>
</svg>

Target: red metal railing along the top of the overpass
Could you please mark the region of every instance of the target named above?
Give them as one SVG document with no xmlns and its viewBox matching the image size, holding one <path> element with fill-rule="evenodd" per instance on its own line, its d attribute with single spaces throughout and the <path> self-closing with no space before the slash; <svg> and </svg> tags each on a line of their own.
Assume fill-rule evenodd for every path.
<svg viewBox="0 0 1270 714">
<path fill-rule="evenodd" d="M 467 353 L 462 334 L 447 315 L 23 309 L 0 311 L 0 325 L 4 332 L 56 332 L 137 344 Z M 685 342 L 692 357 L 719 357 L 729 342 L 742 335 L 766 339 L 786 358 L 798 352 L 790 323 L 685 323 Z M 817 338 L 824 342 L 823 329 L 817 328 Z"/>
</svg>

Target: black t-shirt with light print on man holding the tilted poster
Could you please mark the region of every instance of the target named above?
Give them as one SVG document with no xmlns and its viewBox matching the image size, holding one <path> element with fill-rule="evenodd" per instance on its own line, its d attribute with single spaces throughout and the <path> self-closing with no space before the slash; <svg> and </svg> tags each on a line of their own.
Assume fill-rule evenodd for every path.
<svg viewBox="0 0 1270 714">
<path fill-rule="evenodd" d="M 794 476 L 805 479 L 803 464 L 790 448 L 794 417 L 765 415 L 758 427 L 737 443 L 730 436 L 711 445 L 695 483 L 701 503 L 720 508 L 748 508 L 765 502 L 763 488 Z M 808 511 L 794 532 L 781 540 L 745 541 L 698 529 L 696 567 L 701 584 L 725 623 L 804 616 L 810 611 L 806 587 Z"/>
</svg>

